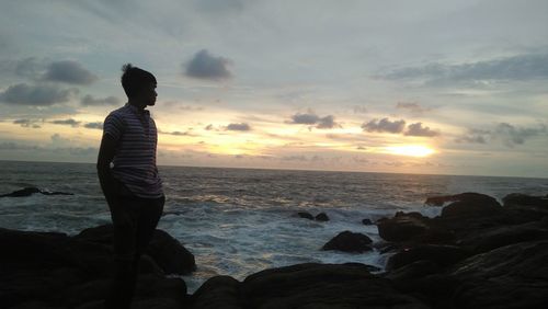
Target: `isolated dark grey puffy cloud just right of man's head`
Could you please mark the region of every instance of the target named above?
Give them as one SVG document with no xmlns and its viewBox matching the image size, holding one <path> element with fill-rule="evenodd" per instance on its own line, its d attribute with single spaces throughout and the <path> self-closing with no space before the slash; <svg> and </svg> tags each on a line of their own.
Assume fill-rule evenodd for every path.
<svg viewBox="0 0 548 309">
<path fill-rule="evenodd" d="M 224 57 L 214 57 L 207 49 L 202 49 L 186 64 L 185 75 L 192 78 L 220 80 L 232 77 L 228 70 L 231 61 Z"/>
</svg>

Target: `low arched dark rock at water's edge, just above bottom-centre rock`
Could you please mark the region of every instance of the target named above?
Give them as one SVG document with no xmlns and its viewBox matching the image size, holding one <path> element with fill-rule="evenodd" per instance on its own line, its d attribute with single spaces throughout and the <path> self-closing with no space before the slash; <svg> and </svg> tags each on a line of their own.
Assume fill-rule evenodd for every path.
<svg viewBox="0 0 548 309">
<path fill-rule="evenodd" d="M 446 267 L 468 258 L 470 254 L 455 245 L 422 244 L 407 248 L 390 256 L 388 270 L 397 270 L 418 261 L 430 261 L 438 266 Z"/>
</svg>

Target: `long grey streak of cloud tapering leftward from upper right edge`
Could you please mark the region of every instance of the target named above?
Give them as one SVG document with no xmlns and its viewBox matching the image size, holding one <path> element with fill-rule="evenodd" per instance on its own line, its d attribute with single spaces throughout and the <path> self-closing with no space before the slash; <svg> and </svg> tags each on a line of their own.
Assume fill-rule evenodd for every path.
<svg viewBox="0 0 548 309">
<path fill-rule="evenodd" d="M 548 54 L 518 55 L 463 65 L 430 64 L 376 76 L 388 80 L 423 79 L 426 83 L 548 78 Z"/>
</svg>

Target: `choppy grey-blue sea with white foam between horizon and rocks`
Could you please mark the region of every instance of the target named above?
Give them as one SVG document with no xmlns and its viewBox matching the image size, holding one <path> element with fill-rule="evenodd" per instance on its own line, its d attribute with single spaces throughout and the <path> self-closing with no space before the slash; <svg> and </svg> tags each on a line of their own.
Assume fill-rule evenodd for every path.
<svg viewBox="0 0 548 309">
<path fill-rule="evenodd" d="M 207 278 L 237 279 L 297 263 L 357 262 L 383 268 L 387 255 L 322 251 L 350 230 L 380 241 L 375 221 L 396 211 L 434 217 L 429 196 L 479 192 L 499 201 L 510 193 L 546 195 L 548 179 L 363 172 L 159 167 L 167 202 L 159 227 L 189 249 L 197 271 L 181 276 L 193 293 Z M 0 227 L 77 234 L 109 224 L 94 164 L 0 161 L 0 194 L 27 186 L 73 195 L 0 198 Z M 326 213 L 330 220 L 296 216 Z"/>
</svg>

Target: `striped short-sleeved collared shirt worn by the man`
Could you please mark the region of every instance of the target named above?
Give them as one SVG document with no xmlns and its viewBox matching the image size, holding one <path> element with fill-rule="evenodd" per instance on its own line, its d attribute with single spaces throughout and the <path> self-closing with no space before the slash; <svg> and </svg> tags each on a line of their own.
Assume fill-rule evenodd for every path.
<svg viewBox="0 0 548 309">
<path fill-rule="evenodd" d="M 161 197 L 162 182 L 156 167 L 158 133 L 150 112 L 126 103 L 106 116 L 103 135 L 116 141 L 112 175 L 138 197 Z"/>
</svg>

